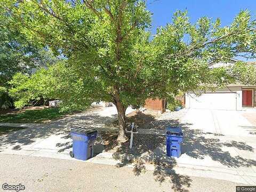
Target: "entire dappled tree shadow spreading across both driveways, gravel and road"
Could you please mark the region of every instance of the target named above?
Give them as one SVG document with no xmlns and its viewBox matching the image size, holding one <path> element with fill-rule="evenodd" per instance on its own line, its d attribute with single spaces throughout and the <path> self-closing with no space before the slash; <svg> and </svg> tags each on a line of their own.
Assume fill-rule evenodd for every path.
<svg viewBox="0 0 256 192">
<path fill-rule="evenodd" d="M 144 121 L 147 119 L 147 121 Z M 105 117 L 100 116 L 97 113 L 85 114 L 84 116 L 73 116 L 72 121 L 70 119 L 60 119 L 54 122 L 54 126 L 49 124 L 38 125 L 37 128 L 29 128 L 12 132 L 10 134 L 0 137 L 0 148 L 5 146 L 12 146 L 15 150 L 20 150 L 22 146 L 29 145 L 36 142 L 38 139 L 45 139 L 51 135 L 59 135 L 62 142 L 57 142 L 56 147 L 59 148 L 59 152 L 64 151 L 72 147 L 72 143 L 67 141 L 70 139 L 70 127 L 85 126 L 89 128 L 100 128 L 105 126 L 106 123 L 114 121 L 116 116 Z M 181 124 L 177 120 L 164 119 L 157 120 L 154 116 L 139 114 L 136 117 L 128 119 L 128 122 L 137 121 L 143 122 L 144 127 L 150 127 L 156 129 L 165 129 L 167 125 L 180 126 L 184 133 L 184 141 L 182 145 L 182 154 L 186 154 L 189 157 L 196 159 L 204 159 L 205 157 L 211 157 L 215 162 L 219 162 L 227 167 L 250 167 L 256 166 L 254 159 L 247 159 L 240 155 L 231 156 L 228 150 L 223 148 L 230 147 L 235 150 L 246 150 L 253 152 L 254 148 L 247 145 L 245 142 L 237 141 L 222 141 L 222 137 L 225 135 L 215 134 L 210 132 L 203 132 L 202 130 L 190 129 L 191 124 Z M 53 124 L 50 124 L 53 125 Z M 111 130 L 111 129 L 110 129 Z M 117 133 L 113 131 L 100 131 L 100 137 L 97 138 L 95 146 L 99 146 L 98 153 L 104 149 L 105 151 L 113 150 L 115 148 L 114 158 L 119 158 L 122 162 L 119 167 L 133 163 L 133 172 L 139 176 L 146 171 L 145 162 L 154 165 L 155 180 L 159 183 L 170 182 L 172 183 L 172 189 L 175 191 L 188 191 L 187 188 L 191 185 L 191 179 L 188 176 L 178 174 L 173 169 L 177 165 L 177 160 L 172 157 L 166 156 L 165 136 L 164 135 L 150 135 L 150 134 L 137 134 L 134 135 L 133 148 L 129 148 L 129 142 L 122 143 L 121 146 L 117 146 L 116 138 Z M 161 148 L 162 146 L 162 148 Z M 129 159 L 121 158 L 121 156 L 133 156 L 132 161 Z M 146 158 L 142 158 L 145 156 Z M 131 159 L 130 159 L 131 160 Z"/>
</svg>

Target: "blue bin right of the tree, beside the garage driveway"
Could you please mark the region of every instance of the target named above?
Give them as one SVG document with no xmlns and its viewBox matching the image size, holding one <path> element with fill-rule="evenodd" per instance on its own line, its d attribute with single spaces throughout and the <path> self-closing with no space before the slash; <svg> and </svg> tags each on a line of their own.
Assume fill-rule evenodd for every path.
<svg viewBox="0 0 256 192">
<path fill-rule="evenodd" d="M 166 128 L 166 155 L 169 157 L 180 157 L 183 133 L 180 127 Z"/>
</svg>

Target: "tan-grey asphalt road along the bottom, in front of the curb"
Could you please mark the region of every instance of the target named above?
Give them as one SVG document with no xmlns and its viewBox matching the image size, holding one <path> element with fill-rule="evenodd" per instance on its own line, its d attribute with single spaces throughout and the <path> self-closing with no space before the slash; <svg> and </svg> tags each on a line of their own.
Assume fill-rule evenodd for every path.
<svg viewBox="0 0 256 192">
<path fill-rule="evenodd" d="M 143 166 L 143 165 L 141 165 Z M 141 168 L 141 167 L 140 167 Z M 138 167 L 137 167 L 138 169 Z M 4 183 L 21 191 L 235 191 L 238 183 L 146 171 L 135 175 L 132 167 L 80 161 L 0 154 L 0 191 Z M 173 185 L 174 184 L 174 185 Z M 14 191 L 14 190 L 13 190 Z"/>
</svg>

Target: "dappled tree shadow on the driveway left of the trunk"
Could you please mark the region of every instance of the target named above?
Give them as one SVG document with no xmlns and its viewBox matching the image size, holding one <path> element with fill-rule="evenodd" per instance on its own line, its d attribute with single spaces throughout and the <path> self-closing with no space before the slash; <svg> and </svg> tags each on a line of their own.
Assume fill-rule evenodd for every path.
<svg viewBox="0 0 256 192">
<path fill-rule="evenodd" d="M 87 128 L 102 128 L 105 126 L 106 122 L 111 122 L 116 119 L 115 115 L 110 117 L 100 116 L 97 114 L 97 111 L 98 110 L 91 114 L 84 114 L 83 116 L 75 115 L 73 117 L 59 119 L 49 124 L 33 124 L 33 128 L 26 128 L 2 135 L 0 136 L 0 148 L 11 147 L 14 150 L 20 150 L 22 147 L 33 144 L 38 140 L 47 139 L 55 135 L 61 139 L 61 142 L 57 143 L 56 147 L 59 148 L 59 152 L 64 151 L 72 147 L 71 143 L 65 141 L 71 138 L 71 127 L 84 126 Z"/>
</svg>

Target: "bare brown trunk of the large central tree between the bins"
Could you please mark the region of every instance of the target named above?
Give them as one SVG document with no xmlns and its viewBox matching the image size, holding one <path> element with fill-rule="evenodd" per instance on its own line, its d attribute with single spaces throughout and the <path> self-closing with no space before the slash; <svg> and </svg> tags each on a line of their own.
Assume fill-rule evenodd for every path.
<svg viewBox="0 0 256 192">
<path fill-rule="evenodd" d="M 119 133 L 117 141 L 118 143 L 127 141 L 127 137 L 125 135 L 125 111 L 126 107 L 123 106 L 121 102 L 116 103 L 117 114 L 118 114 L 118 127 Z"/>
</svg>

